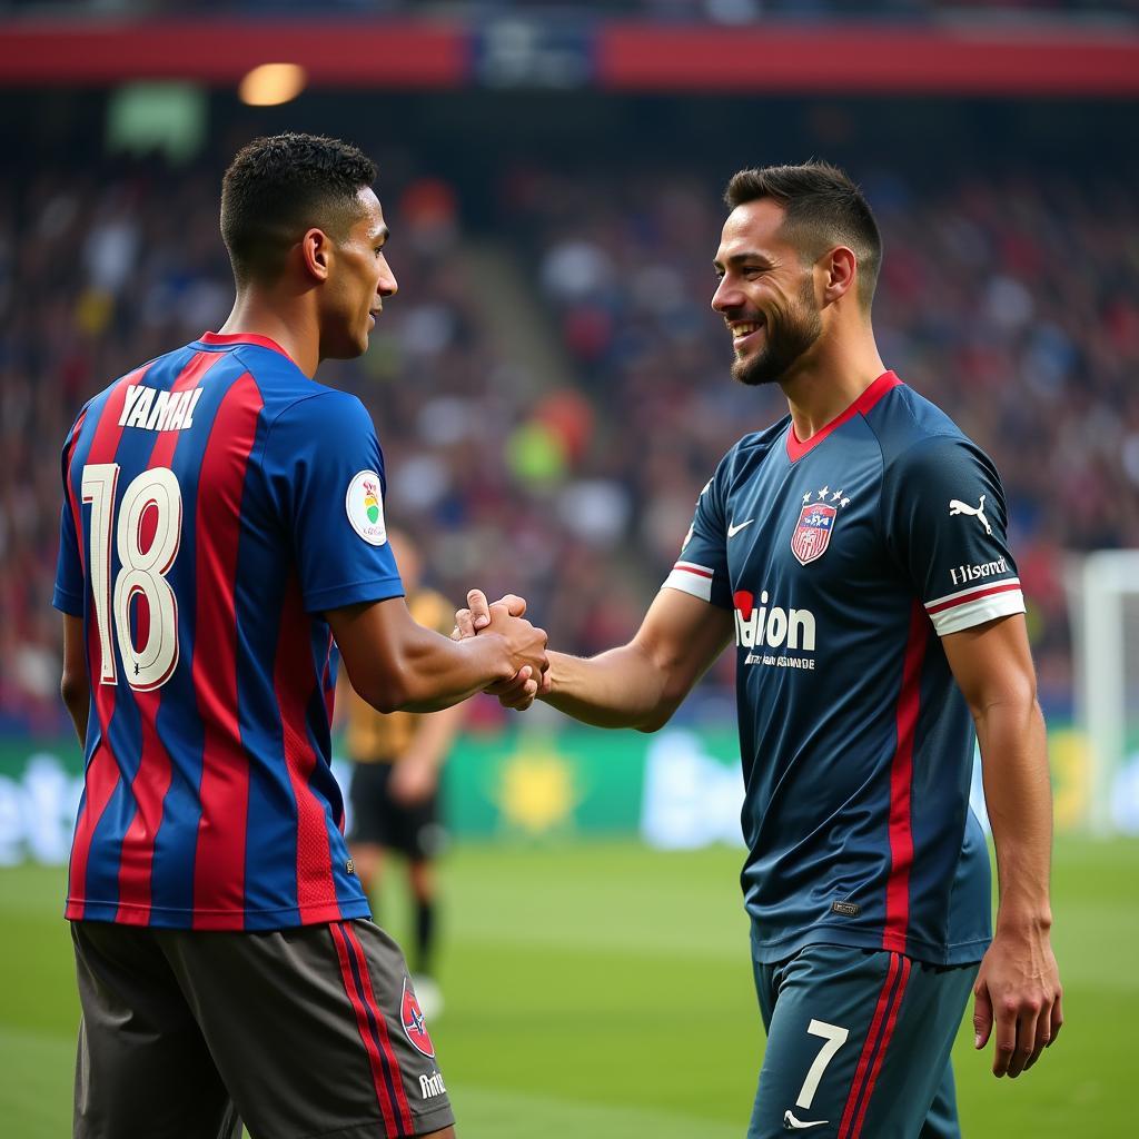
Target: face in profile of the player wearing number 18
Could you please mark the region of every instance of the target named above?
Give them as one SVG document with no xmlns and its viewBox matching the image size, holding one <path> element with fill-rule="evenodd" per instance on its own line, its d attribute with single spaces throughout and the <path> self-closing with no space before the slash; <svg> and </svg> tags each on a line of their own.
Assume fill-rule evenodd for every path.
<svg viewBox="0 0 1139 1139">
<path fill-rule="evenodd" d="M 387 226 L 379 199 L 364 188 L 358 200 L 359 215 L 334 241 L 320 312 L 321 359 L 350 360 L 367 352 L 384 298 L 399 288 L 384 255 Z"/>
</svg>

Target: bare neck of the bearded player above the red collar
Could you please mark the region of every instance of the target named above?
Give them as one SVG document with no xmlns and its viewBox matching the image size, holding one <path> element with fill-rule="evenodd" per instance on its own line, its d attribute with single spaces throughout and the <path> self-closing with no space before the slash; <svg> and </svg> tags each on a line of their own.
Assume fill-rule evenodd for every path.
<svg viewBox="0 0 1139 1139">
<path fill-rule="evenodd" d="M 869 327 L 845 342 L 820 336 L 793 372 L 779 382 L 800 442 L 805 443 L 842 415 L 885 370 Z"/>
</svg>

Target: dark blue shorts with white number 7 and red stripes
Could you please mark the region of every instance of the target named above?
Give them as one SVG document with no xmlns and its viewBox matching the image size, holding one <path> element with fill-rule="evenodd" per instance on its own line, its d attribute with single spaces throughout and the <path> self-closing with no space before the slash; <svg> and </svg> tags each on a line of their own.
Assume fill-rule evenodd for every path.
<svg viewBox="0 0 1139 1139">
<path fill-rule="evenodd" d="M 959 1139 L 950 1050 L 977 967 L 828 944 L 755 961 L 768 1043 L 748 1139 Z"/>
</svg>

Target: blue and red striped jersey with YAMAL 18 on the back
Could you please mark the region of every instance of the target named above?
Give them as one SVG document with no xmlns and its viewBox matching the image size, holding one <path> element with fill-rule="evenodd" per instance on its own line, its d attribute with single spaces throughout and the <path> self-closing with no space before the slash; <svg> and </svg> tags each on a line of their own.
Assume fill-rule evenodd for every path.
<svg viewBox="0 0 1139 1139">
<path fill-rule="evenodd" d="M 91 706 L 66 916 L 198 929 L 366 917 L 329 769 L 323 614 L 403 593 L 368 412 L 207 333 L 64 445 L 54 604 Z"/>
</svg>

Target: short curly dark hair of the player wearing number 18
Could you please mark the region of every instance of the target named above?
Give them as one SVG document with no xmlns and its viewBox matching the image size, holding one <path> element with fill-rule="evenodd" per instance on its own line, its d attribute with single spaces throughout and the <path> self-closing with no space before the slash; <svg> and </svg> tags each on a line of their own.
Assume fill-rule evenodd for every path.
<svg viewBox="0 0 1139 1139">
<path fill-rule="evenodd" d="M 241 147 L 221 186 L 221 236 L 238 285 L 276 276 L 312 226 L 346 236 L 360 190 L 375 181 L 376 164 L 339 139 L 273 134 Z"/>
</svg>

